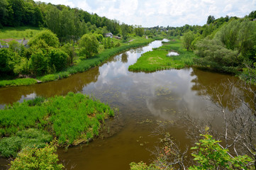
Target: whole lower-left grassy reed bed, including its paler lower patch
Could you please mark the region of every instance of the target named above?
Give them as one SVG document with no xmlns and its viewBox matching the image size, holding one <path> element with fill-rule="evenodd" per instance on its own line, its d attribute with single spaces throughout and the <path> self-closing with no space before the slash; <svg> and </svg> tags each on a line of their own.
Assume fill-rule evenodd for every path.
<svg viewBox="0 0 256 170">
<path fill-rule="evenodd" d="M 84 94 L 35 98 L 0 110 L 0 152 L 15 157 L 25 147 L 44 147 L 57 138 L 58 145 L 78 145 L 99 135 L 104 120 L 113 117 L 106 104 Z"/>
</svg>

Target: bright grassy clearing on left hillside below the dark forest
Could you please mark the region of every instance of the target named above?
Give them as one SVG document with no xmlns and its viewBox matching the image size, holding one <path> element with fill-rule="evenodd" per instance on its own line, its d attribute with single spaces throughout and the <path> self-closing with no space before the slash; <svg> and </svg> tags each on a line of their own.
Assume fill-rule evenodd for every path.
<svg viewBox="0 0 256 170">
<path fill-rule="evenodd" d="M 36 27 L 5 27 L 0 29 L 0 39 L 30 39 L 33 38 L 37 33 L 39 33 L 41 30 L 40 28 Z"/>
</svg>

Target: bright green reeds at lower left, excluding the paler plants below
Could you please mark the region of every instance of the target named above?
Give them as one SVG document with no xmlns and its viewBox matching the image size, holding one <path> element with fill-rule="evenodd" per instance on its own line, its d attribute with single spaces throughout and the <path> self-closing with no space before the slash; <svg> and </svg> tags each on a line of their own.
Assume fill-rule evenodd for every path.
<svg viewBox="0 0 256 170">
<path fill-rule="evenodd" d="M 76 140 L 83 142 L 99 135 L 101 123 L 112 116 L 113 110 L 106 104 L 83 94 L 69 93 L 46 101 L 35 98 L 13 103 L 13 106 L 0 110 L 0 132 L 2 136 L 9 136 L 18 130 L 44 130 L 50 126 L 60 145 L 72 145 Z"/>
</svg>

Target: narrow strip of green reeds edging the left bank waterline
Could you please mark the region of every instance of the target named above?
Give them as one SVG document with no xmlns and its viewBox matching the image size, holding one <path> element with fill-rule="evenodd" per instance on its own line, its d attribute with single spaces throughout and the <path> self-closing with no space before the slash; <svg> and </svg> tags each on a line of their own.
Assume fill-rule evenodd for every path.
<svg viewBox="0 0 256 170">
<path fill-rule="evenodd" d="M 47 74 L 43 77 L 36 77 L 35 79 L 26 78 L 26 79 L 12 79 L 12 80 L 1 80 L 0 87 L 4 86 L 24 86 L 24 85 L 32 85 L 37 83 L 43 83 L 48 81 L 55 81 L 58 79 L 64 79 L 72 74 L 76 74 L 78 72 L 85 72 L 92 67 L 96 67 L 97 65 L 105 62 L 109 57 L 118 54 L 119 52 L 124 52 L 126 50 L 130 50 L 134 47 L 140 47 L 144 45 L 148 45 L 148 43 L 152 42 L 153 39 L 145 39 L 145 38 L 133 38 L 131 42 L 121 43 L 121 46 L 114 47 L 111 49 L 106 49 L 100 52 L 95 57 L 91 57 L 86 60 L 81 60 L 78 64 L 67 68 L 63 72 L 57 72 L 55 74 Z"/>
</svg>

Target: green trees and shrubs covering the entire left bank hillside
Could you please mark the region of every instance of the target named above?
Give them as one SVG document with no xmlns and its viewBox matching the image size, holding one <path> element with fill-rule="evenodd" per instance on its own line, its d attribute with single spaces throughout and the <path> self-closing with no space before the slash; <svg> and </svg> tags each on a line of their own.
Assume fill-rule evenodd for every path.
<svg viewBox="0 0 256 170">
<path fill-rule="evenodd" d="M 109 54 L 113 55 L 121 50 L 150 42 L 145 38 L 138 38 L 140 43 L 135 45 L 135 42 L 131 42 L 127 45 L 128 40 L 143 36 L 143 28 L 120 24 L 118 21 L 99 17 L 96 13 L 90 14 L 69 6 L 33 0 L 4 0 L 1 1 L 0 16 L 0 28 L 4 26 L 0 31 L 0 42 L 1 45 L 9 44 L 8 49 L 0 49 L 0 79 L 4 80 L 0 82 L 0 86 L 37 82 L 19 80 L 17 77 L 37 77 L 40 81 L 69 77 L 70 74 L 96 66 L 99 61 L 103 62 L 101 54 L 96 55 L 104 52 L 104 49 L 125 46 L 113 50 L 115 52 L 109 50 Z M 6 26 L 14 26 L 17 29 L 10 30 Z M 18 26 L 26 27 L 23 29 Z M 26 29 L 32 28 L 31 26 L 32 30 Z M 114 38 L 104 38 L 106 33 L 113 33 Z M 23 42 L 9 41 L 10 38 L 24 38 L 23 42 L 27 38 L 29 47 L 24 47 Z M 94 60 L 94 63 L 92 60 L 88 61 L 89 57 L 95 56 L 98 59 Z M 104 59 L 106 60 L 106 57 Z M 78 67 L 73 68 L 73 65 L 78 66 L 79 70 Z M 71 68 L 71 72 L 67 68 Z M 46 77 L 43 77 L 44 75 Z M 7 79 L 11 80 L 6 81 Z"/>
</svg>

